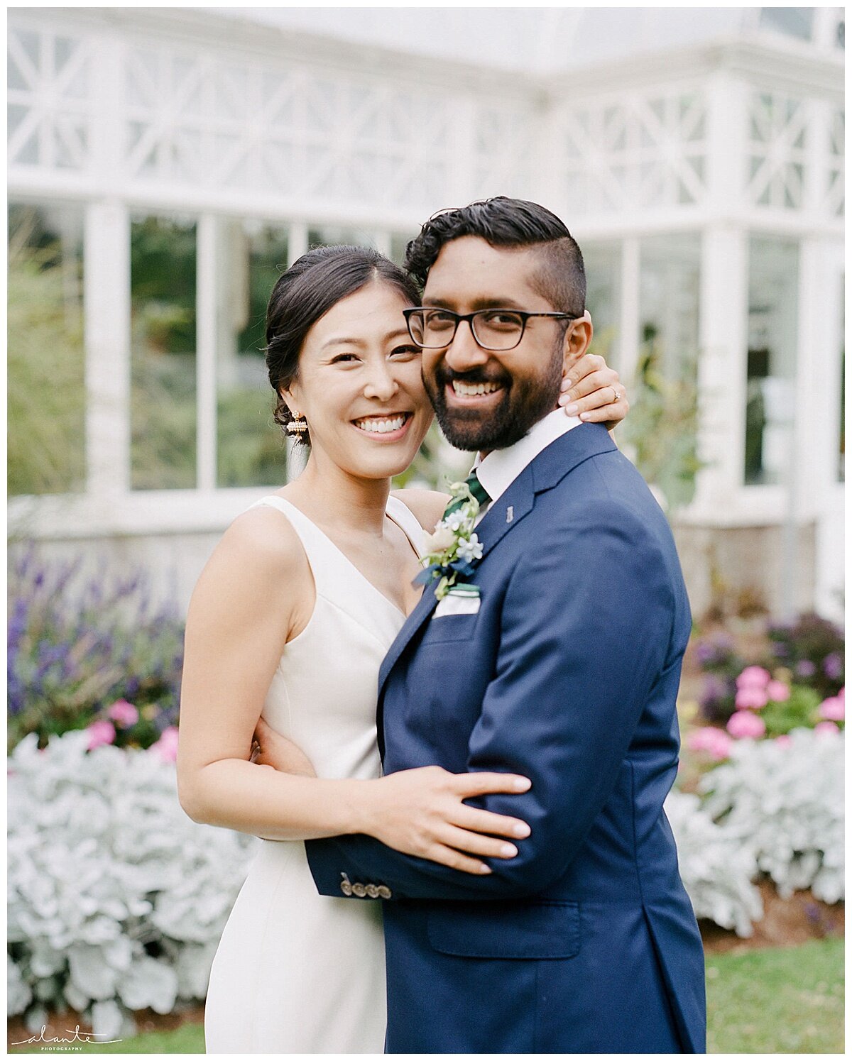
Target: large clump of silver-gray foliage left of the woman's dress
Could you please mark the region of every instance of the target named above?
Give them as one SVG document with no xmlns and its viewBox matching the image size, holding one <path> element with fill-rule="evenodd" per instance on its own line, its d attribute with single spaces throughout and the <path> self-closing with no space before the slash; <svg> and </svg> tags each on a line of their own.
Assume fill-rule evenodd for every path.
<svg viewBox="0 0 852 1061">
<path fill-rule="evenodd" d="M 87 742 L 30 734 L 8 760 L 8 1012 L 70 1006 L 115 1036 L 204 998 L 258 841 L 187 817 L 156 752 Z"/>
</svg>

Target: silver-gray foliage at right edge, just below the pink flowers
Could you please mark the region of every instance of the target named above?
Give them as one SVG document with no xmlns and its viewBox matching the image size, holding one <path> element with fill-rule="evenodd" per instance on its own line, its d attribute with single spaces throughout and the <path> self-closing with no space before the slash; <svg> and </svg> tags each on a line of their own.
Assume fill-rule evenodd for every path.
<svg viewBox="0 0 852 1061">
<path fill-rule="evenodd" d="M 701 779 L 705 810 L 742 837 L 786 899 L 844 898 L 844 737 L 794 730 L 789 743 L 737 741 Z"/>
</svg>

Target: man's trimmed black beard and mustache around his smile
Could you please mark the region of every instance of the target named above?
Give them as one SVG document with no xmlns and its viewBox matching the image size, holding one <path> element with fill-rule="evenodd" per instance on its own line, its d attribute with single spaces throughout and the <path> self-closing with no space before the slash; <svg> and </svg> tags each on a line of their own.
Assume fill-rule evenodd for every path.
<svg viewBox="0 0 852 1061">
<path fill-rule="evenodd" d="M 447 405 L 446 386 L 453 380 L 464 383 L 500 383 L 504 388 L 499 403 L 488 412 Z M 458 450 L 505 450 L 520 441 L 533 424 L 556 408 L 562 382 L 562 344 L 554 349 L 543 373 L 534 379 L 516 379 L 508 372 L 476 368 L 454 372 L 440 361 L 434 377 L 423 384 L 445 437 Z"/>
</svg>

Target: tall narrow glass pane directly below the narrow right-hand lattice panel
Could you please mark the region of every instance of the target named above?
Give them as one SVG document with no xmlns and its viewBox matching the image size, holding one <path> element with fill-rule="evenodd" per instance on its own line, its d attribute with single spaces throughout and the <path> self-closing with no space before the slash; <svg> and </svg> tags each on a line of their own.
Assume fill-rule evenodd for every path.
<svg viewBox="0 0 852 1061">
<path fill-rule="evenodd" d="M 749 241 L 747 484 L 781 483 L 793 424 L 799 248 L 792 240 Z"/>
</svg>

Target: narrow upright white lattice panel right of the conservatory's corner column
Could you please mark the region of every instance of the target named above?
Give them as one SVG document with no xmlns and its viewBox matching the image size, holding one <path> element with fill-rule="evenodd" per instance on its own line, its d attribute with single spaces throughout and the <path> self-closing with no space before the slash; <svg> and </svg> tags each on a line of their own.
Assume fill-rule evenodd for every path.
<svg viewBox="0 0 852 1061">
<path fill-rule="evenodd" d="M 806 101 L 753 91 L 749 98 L 748 123 L 749 203 L 800 210 L 807 151 Z"/>
</svg>

